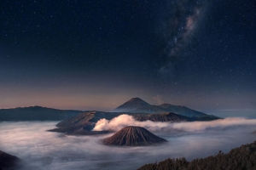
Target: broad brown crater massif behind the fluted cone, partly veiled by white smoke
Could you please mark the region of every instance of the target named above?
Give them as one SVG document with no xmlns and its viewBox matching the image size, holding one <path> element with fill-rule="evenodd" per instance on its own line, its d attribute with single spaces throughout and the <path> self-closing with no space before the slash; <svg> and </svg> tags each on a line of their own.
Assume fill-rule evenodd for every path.
<svg viewBox="0 0 256 170">
<path fill-rule="evenodd" d="M 137 121 L 152 121 L 152 122 L 188 122 L 190 120 L 187 116 L 180 116 L 175 113 L 161 113 L 161 114 L 144 114 L 144 113 L 119 113 L 119 112 L 103 112 L 103 111 L 87 111 L 73 116 L 65 121 L 59 122 L 55 129 L 50 132 L 67 133 L 71 135 L 93 135 L 101 133 L 109 133 L 108 131 L 91 131 L 96 122 L 105 118 L 111 120 L 120 115 L 133 116 Z"/>
</svg>

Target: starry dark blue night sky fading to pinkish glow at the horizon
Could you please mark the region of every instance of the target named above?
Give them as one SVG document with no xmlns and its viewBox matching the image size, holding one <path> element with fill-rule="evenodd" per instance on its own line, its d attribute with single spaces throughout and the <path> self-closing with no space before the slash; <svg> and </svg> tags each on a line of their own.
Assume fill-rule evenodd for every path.
<svg viewBox="0 0 256 170">
<path fill-rule="evenodd" d="M 132 97 L 256 110 L 254 0 L 0 3 L 0 108 L 111 111 Z"/>
</svg>

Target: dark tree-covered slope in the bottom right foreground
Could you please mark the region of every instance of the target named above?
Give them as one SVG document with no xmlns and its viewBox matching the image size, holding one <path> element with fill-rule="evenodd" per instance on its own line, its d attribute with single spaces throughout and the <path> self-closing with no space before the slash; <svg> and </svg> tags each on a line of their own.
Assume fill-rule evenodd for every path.
<svg viewBox="0 0 256 170">
<path fill-rule="evenodd" d="M 256 141 L 252 144 L 244 144 L 239 148 L 230 150 L 224 154 L 219 151 L 216 156 L 186 161 L 185 158 L 166 159 L 157 163 L 151 163 L 138 168 L 138 170 L 201 170 L 201 169 L 256 169 Z"/>
</svg>

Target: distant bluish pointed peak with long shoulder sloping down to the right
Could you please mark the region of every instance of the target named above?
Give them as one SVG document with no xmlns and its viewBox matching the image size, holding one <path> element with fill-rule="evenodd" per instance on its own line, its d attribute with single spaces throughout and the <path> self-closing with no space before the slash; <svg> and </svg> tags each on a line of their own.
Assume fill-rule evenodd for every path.
<svg viewBox="0 0 256 170">
<path fill-rule="evenodd" d="M 200 111 L 191 110 L 188 107 L 181 105 L 150 105 L 143 99 L 132 98 L 126 101 L 123 105 L 115 108 L 113 112 L 132 112 L 132 113 L 163 113 L 163 112 L 173 112 L 177 115 L 189 116 L 189 117 L 201 117 L 205 120 L 217 119 L 216 116 L 210 116 Z"/>
</svg>

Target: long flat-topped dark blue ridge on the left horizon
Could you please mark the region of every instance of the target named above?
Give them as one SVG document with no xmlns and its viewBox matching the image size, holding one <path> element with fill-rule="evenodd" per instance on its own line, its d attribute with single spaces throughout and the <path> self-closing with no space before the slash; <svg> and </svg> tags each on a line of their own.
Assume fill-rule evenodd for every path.
<svg viewBox="0 0 256 170">
<path fill-rule="evenodd" d="M 14 109 L 1 109 L 2 121 L 62 121 L 77 116 L 82 111 L 57 110 L 41 106 L 17 107 Z"/>
</svg>

